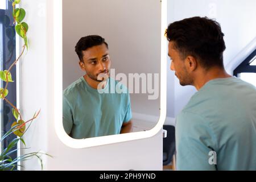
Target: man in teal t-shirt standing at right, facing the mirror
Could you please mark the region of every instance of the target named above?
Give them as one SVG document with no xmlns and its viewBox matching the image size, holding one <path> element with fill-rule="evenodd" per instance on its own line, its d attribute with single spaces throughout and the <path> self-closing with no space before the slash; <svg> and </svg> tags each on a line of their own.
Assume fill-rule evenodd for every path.
<svg viewBox="0 0 256 182">
<path fill-rule="evenodd" d="M 176 117 L 177 170 L 256 170 L 256 89 L 226 73 L 220 24 L 187 18 L 166 35 L 171 70 L 198 90 Z"/>
</svg>

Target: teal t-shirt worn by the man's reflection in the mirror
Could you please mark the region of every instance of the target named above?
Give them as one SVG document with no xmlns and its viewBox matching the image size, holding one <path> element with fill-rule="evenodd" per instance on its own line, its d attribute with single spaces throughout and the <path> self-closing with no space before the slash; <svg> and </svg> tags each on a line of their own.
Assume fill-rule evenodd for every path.
<svg viewBox="0 0 256 182">
<path fill-rule="evenodd" d="M 90 87 L 84 77 L 63 92 L 63 126 L 72 138 L 119 134 L 123 122 L 131 117 L 128 89 L 113 78 L 100 92 Z"/>
</svg>

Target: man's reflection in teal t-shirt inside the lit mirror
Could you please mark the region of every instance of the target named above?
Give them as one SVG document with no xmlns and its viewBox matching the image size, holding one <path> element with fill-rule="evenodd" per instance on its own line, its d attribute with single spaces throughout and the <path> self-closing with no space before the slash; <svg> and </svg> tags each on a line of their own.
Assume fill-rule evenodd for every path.
<svg viewBox="0 0 256 182">
<path fill-rule="evenodd" d="M 111 61 L 105 39 L 85 36 L 76 44 L 76 53 L 86 75 L 63 92 L 65 131 L 75 139 L 129 133 L 132 127 L 129 93 L 105 92 L 118 84 L 109 77 Z"/>
</svg>

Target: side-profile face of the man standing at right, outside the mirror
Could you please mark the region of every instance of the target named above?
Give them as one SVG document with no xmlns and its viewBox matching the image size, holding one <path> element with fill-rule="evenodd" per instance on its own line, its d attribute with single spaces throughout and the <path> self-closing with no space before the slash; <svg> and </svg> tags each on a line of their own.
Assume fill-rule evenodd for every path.
<svg viewBox="0 0 256 182">
<path fill-rule="evenodd" d="M 182 59 L 180 53 L 174 48 L 174 42 L 168 44 L 168 56 L 171 59 L 172 71 L 175 71 L 175 76 L 179 79 L 180 85 L 192 85 L 192 78 L 189 76 L 185 61 L 187 58 Z"/>
</svg>

